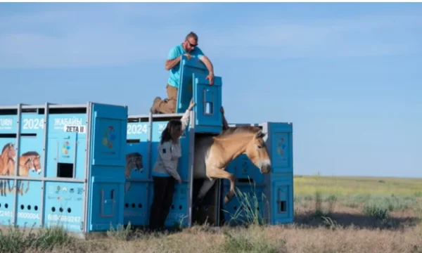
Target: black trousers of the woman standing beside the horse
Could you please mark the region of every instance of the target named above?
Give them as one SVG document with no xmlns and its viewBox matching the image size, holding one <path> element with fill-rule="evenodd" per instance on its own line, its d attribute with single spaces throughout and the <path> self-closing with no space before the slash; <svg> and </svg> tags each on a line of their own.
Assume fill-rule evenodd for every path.
<svg viewBox="0 0 422 253">
<path fill-rule="evenodd" d="M 172 176 L 153 176 L 153 183 L 154 196 L 151 205 L 149 227 L 155 231 L 164 228 L 165 220 L 173 202 L 175 180 Z"/>
</svg>

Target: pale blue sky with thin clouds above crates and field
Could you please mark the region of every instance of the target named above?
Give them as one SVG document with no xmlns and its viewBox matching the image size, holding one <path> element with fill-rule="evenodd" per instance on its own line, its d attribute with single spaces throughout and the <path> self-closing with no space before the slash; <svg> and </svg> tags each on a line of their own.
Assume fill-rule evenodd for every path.
<svg viewBox="0 0 422 253">
<path fill-rule="evenodd" d="M 422 177 L 421 17 L 422 4 L 0 4 L 0 104 L 146 114 L 194 31 L 229 122 L 293 122 L 295 174 Z"/>
</svg>

